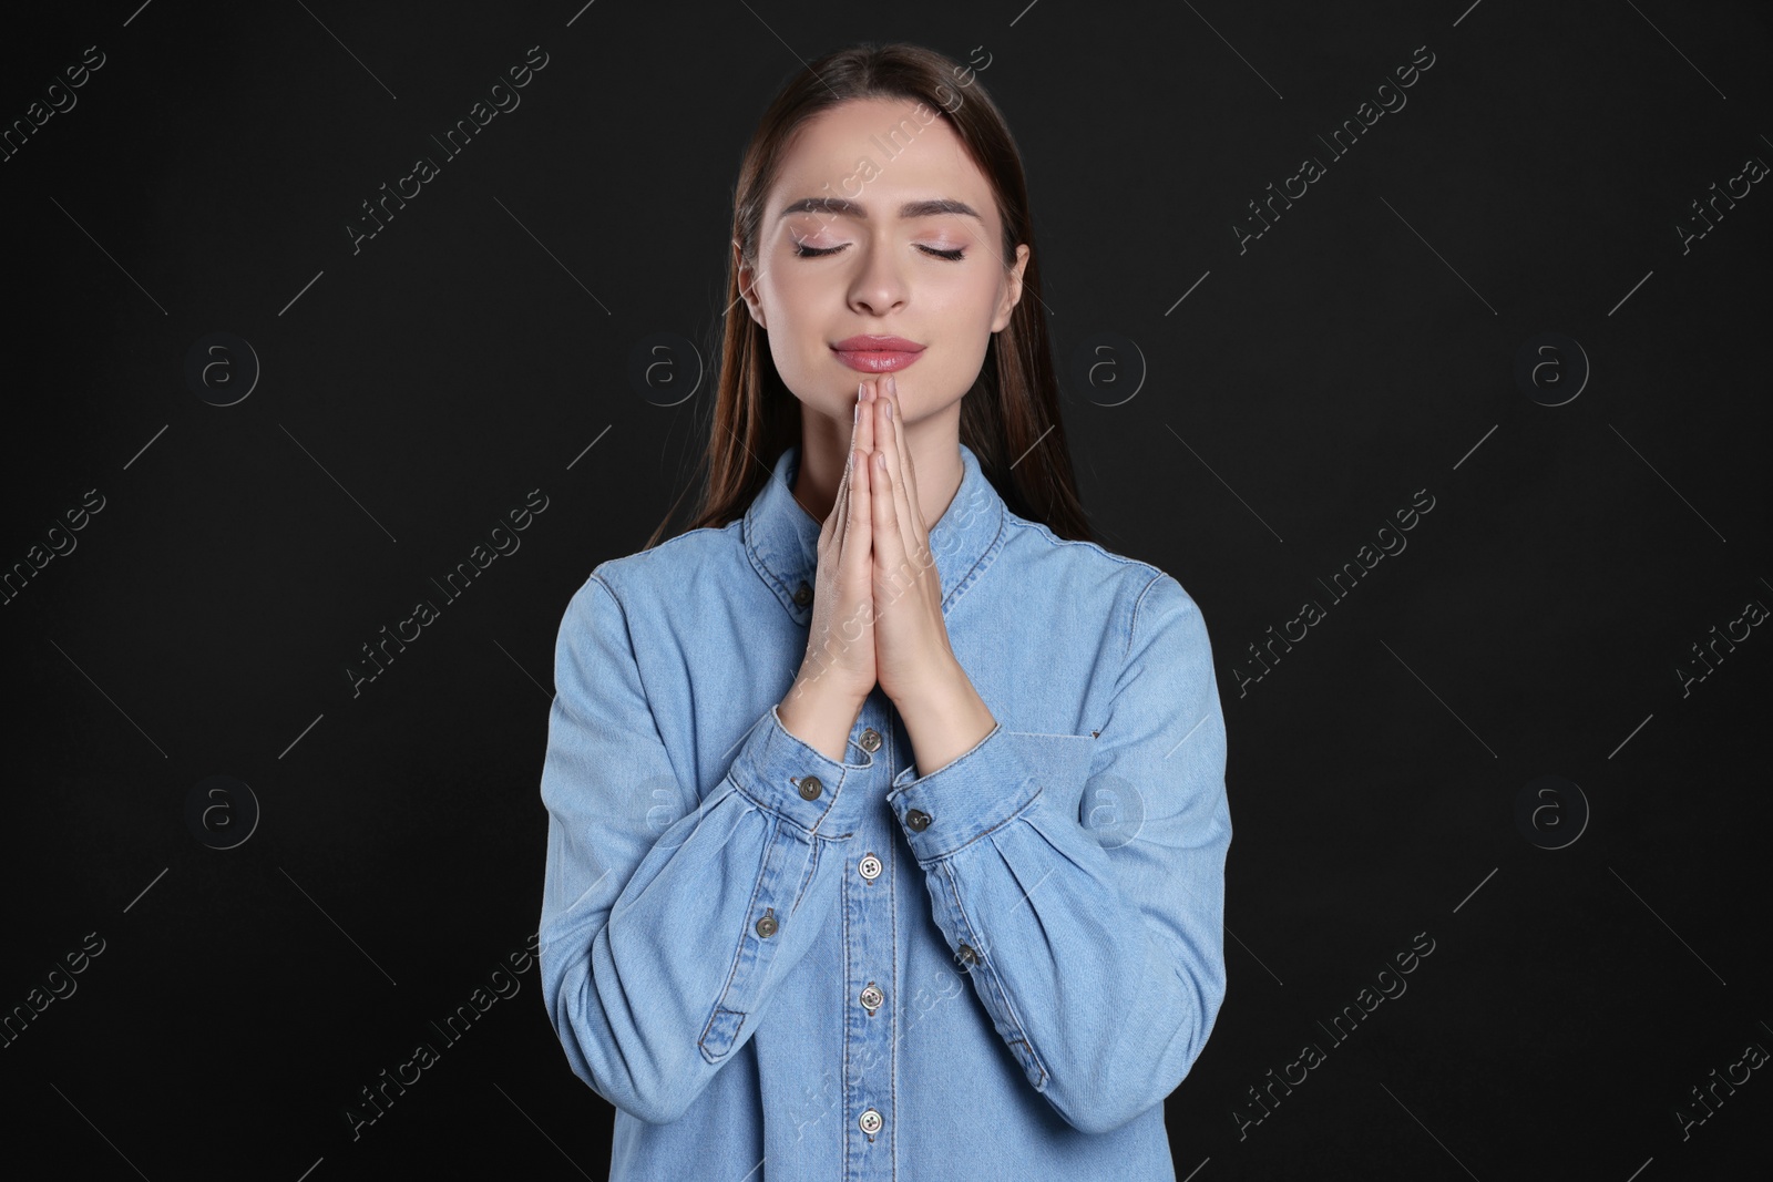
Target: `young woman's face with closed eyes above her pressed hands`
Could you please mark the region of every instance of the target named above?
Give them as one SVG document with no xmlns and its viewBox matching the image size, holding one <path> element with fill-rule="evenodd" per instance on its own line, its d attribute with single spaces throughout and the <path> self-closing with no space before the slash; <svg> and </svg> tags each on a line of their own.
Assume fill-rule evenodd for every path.
<svg viewBox="0 0 1773 1182">
<path fill-rule="evenodd" d="M 991 183 L 945 119 L 915 110 L 856 99 L 801 126 L 764 206 L 757 271 L 739 273 L 782 381 L 842 424 L 856 386 L 888 372 L 892 354 L 839 346 L 855 337 L 922 346 L 890 370 L 911 424 L 972 388 L 991 333 L 1021 298 L 1028 246 L 1002 257 Z M 824 204 L 784 213 L 808 198 Z"/>
</svg>

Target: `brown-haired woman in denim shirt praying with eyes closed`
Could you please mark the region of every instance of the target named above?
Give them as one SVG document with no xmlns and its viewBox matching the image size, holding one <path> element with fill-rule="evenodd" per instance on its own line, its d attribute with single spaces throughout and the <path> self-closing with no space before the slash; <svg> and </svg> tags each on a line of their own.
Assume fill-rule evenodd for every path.
<svg viewBox="0 0 1773 1182">
<path fill-rule="evenodd" d="M 1225 728 L 1195 603 L 1087 540 L 1032 237 L 917 46 L 745 156 L 702 512 L 557 647 L 543 991 L 612 1178 L 1174 1177 Z"/>
</svg>

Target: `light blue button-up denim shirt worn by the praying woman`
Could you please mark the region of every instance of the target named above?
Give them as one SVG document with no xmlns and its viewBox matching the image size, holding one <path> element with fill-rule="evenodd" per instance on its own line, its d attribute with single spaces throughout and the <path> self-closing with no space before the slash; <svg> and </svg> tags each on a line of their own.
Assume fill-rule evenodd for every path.
<svg viewBox="0 0 1773 1182">
<path fill-rule="evenodd" d="M 1172 576 L 1009 512 L 961 445 L 941 611 L 996 727 L 918 776 L 879 686 L 791 735 L 800 447 L 739 521 L 599 564 L 555 650 L 541 973 L 610 1178 L 1174 1178 L 1225 996 L 1225 723 Z"/>
</svg>

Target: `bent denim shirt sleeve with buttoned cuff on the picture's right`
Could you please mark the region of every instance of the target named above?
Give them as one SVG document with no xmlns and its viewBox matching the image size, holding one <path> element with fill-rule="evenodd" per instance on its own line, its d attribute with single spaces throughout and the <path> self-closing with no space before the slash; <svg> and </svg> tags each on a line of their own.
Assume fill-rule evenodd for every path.
<svg viewBox="0 0 1773 1182">
<path fill-rule="evenodd" d="M 1085 1132 L 1161 1104 L 1225 996 L 1230 812 L 1206 624 L 1158 574 L 1126 643 L 1099 737 L 998 723 L 886 797 L 956 966 Z"/>
</svg>

